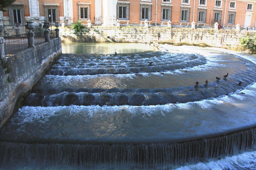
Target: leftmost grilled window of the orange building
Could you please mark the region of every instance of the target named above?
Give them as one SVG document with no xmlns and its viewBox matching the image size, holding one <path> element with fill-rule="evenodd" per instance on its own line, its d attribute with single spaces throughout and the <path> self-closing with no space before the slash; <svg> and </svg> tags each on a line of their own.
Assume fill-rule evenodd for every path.
<svg viewBox="0 0 256 170">
<path fill-rule="evenodd" d="M 9 12 L 9 23 L 10 26 L 14 26 L 15 23 L 20 23 L 20 25 L 25 25 L 25 15 L 23 5 L 10 5 L 8 7 Z"/>
</svg>

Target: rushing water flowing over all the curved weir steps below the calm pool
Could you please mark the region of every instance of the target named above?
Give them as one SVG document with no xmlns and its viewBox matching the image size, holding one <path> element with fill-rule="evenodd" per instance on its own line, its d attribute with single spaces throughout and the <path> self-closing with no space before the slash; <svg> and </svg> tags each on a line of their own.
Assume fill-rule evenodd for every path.
<svg viewBox="0 0 256 170">
<path fill-rule="evenodd" d="M 255 57 L 150 50 L 66 51 L 83 54 L 60 56 L 0 132 L 0 168 L 255 169 Z"/>
</svg>

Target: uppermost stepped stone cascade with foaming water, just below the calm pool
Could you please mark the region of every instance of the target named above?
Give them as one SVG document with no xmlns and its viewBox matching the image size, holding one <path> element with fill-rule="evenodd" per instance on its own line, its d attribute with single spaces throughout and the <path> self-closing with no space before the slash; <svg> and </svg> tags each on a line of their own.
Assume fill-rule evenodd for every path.
<svg viewBox="0 0 256 170">
<path fill-rule="evenodd" d="M 154 57 L 151 57 L 154 56 Z M 150 64 L 152 62 L 152 64 Z M 187 54 L 146 53 L 129 56 L 62 55 L 52 66 L 50 75 L 96 75 L 161 72 L 206 64 L 205 57 Z"/>
</svg>

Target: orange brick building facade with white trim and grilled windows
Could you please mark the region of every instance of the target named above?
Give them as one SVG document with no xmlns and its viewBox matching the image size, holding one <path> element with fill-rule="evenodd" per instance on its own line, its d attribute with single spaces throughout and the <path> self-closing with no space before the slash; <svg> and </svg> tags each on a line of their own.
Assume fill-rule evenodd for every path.
<svg viewBox="0 0 256 170">
<path fill-rule="evenodd" d="M 120 23 L 176 25 L 256 26 L 256 0 L 16 0 L 0 12 L 0 25 L 25 21 L 73 22 L 115 25 Z"/>
</svg>

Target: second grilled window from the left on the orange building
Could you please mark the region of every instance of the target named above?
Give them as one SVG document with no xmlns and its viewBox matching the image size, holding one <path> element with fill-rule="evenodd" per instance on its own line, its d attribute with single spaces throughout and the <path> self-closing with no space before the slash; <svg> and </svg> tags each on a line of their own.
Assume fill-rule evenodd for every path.
<svg viewBox="0 0 256 170">
<path fill-rule="evenodd" d="M 59 22 L 59 6 L 57 5 L 46 5 L 45 6 L 45 20 L 47 22 Z"/>
</svg>

